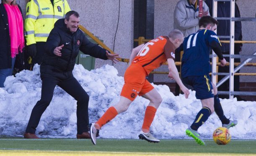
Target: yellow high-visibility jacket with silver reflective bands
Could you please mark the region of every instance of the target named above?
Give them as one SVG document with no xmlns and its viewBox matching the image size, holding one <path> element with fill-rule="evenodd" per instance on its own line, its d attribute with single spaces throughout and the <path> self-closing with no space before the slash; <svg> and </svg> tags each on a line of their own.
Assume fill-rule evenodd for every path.
<svg viewBox="0 0 256 156">
<path fill-rule="evenodd" d="M 67 0 L 31 0 L 26 7 L 24 23 L 26 44 L 46 42 L 54 23 L 70 11 Z"/>
</svg>

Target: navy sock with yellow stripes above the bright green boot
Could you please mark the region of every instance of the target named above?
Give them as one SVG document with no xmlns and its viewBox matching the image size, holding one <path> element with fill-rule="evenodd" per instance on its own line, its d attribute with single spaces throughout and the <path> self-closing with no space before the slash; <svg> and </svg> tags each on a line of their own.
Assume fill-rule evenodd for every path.
<svg viewBox="0 0 256 156">
<path fill-rule="evenodd" d="M 196 115 L 196 119 L 191 125 L 192 130 L 198 130 L 198 128 L 206 122 L 208 117 L 212 114 L 211 109 L 208 107 L 203 107 L 198 114 Z"/>
</svg>

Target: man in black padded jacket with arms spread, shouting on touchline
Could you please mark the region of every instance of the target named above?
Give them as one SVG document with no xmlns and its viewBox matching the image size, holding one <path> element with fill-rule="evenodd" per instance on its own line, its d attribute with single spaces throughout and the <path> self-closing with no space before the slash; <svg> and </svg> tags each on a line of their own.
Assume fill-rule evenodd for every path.
<svg viewBox="0 0 256 156">
<path fill-rule="evenodd" d="M 24 138 L 38 138 L 35 135 L 39 120 L 52 100 L 56 85 L 70 94 L 77 101 L 77 135 L 76 138 L 90 138 L 88 104 L 89 96 L 73 77 L 72 70 L 75 66 L 79 49 L 84 54 L 103 60 L 118 62 L 118 54 L 110 54 L 96 44 L 89 42 L 84 33 L 78 29 L 79 14 L 69 11 L 65 19 L 59 19 L 45 44 L 45 54 L 40 66 L 42 79 L 41 99 L 37 101 L 31 112 Z"/>
</svg>

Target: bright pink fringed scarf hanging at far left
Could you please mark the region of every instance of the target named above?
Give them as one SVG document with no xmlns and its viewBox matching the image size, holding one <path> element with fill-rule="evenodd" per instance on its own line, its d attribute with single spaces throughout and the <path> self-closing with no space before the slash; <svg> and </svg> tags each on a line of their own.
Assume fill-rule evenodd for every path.
<svg viewBox="0 0 256 156">
<path fill-rule="evenodd" d="M 17 5 L 4 4 L 10 30 L 10 52 L 14 58 L 24 48 L 23 19 Z"/>
</svg>

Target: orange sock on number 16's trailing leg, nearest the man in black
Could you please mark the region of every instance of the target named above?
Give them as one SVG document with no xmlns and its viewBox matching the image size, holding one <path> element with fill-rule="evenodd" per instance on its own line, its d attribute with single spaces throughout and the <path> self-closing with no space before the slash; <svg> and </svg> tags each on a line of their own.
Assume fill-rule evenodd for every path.
<svg viewBox="0 0 256 156">
<path fill-rule="evenodd" d="M 99 124 L 99 128 L 101 128 L 103 125 L 105 125 L 107 122 L 110 122 L 110 120 L 117 116 L 117 114 L 118 111 L 115 109 L 115 107 L 110 107 L 96 123 Z"/>
</svg>

